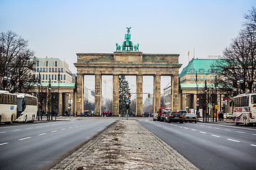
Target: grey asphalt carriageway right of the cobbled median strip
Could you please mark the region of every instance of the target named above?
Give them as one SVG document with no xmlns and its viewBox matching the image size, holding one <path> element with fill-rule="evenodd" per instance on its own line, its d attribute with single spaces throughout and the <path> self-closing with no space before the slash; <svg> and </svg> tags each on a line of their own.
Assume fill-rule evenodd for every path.
<svg viewBox="0 0 256 170">
<path fill-rule="evenodd" d="M 198 169 L 256 169 L 256 130 L 207 123 L 139 123 Z"/>
</svg>

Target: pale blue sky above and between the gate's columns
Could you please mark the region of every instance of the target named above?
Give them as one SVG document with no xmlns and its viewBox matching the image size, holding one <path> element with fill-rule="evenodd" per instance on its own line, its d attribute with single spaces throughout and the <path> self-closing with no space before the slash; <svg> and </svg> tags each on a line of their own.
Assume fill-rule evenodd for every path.
<svg viewBox="0 0 256 170">
<path fill-rule="evenodd" d="M 115 43 L 124 41 L 126 27 L 132 27 L 131 39 L 140 51 L 179 54 L 181 72 L 188 51 L 189 60 L 223 55 L 252 6 L 255 0 L 0 0 L 0 33 L 14 31 L 28 40 L 36 57 L 60 58 L 76 73 L 76 53 L 112 53 Z M 85 77 L 87 88 L 94 89 L 93 79 Z M 110 79 L 102 77 L 103 90 L 112 88 Z M 135 92 L 135 78 L 127 79 Z M 162 77 L 161 89 L 170 80 Z M 144 92 L 153 94 L 153 78 L 144 77 L 148 81 L 152 83 L 144 83 Z"/>
</svg>

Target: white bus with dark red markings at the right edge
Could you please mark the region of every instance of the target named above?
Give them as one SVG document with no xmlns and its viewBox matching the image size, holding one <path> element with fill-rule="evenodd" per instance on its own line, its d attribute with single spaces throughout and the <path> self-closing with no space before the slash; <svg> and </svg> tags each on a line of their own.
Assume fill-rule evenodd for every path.
<svg viewBox="0 0 256 170">
<path fill-rule="evenodd" d="M 235 124 L 245 126 L 256 123 L 256 94 L 240 94 L 234 97 Z"/>
</svg>

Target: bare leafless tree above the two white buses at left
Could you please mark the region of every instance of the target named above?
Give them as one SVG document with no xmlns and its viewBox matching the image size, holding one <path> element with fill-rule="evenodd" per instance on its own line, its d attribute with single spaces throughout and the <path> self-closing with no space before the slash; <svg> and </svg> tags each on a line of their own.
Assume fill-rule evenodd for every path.
<svg viewBox="0 0 256 170">
<path fill-rule="evenodd" d="M 1 33 L 0 49 L 0 89 L 6 87 L 3 77 L 6 74 L 6 66 L 8 66 L 8 76 L 11 80 L 8 82 L 7 90 L 11 93 L 28 91 L 30 83 L 35 81 L 32 71 L 36 63 L 34 52 L 28 49 L 28 41 L 18 37 L 12 31 Z"/>
</svg>

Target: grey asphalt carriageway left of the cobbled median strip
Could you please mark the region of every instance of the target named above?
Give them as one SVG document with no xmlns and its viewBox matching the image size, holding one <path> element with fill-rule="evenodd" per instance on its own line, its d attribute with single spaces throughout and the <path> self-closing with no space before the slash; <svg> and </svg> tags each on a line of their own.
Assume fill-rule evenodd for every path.
<svg viewBox="0 0 256 170">
<path fill-rule="evenodd" d="M 114 120 L 0 126 L 0 169 L 49 169 Z"/>
</svg>

